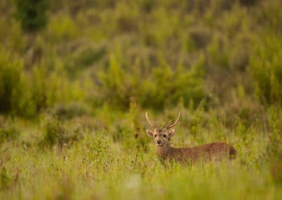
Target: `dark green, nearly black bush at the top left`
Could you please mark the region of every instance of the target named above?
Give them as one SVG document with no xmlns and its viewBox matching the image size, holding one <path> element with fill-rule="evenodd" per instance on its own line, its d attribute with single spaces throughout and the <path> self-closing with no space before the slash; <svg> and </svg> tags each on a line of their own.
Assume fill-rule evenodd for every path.
<svg viewBox="0 0 282 200">
<path fill-rule="evenodd" d="M 47 11 L 50 8 L 48 0 L 14 0 L 16 4 L 16 18 L 23 30 L 35 32 L 47 25 Z"/>
</svg>

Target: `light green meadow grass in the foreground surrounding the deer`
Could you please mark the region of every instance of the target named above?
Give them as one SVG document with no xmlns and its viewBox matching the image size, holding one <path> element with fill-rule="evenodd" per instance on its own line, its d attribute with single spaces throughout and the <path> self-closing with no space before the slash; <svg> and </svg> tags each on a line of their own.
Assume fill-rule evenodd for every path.
<svg viewBox="0 0 282 200">
<path fill-rule="evenodd" d="M 212 114 L 210 118 L 216 121 Z M 180 122 L 174 146 L 226 141 L 235 146 L 238 157 L 222 163 L 164 166 L 157 159 L 152 142 L 146 143 L 147 151 L 137 147 L 133 130 L 128 130 L 128 138 L 114 142 L 113 132 L 108 131 L 114 128 L 111 123 L 99 130 L 82 128 L 80 123 L 66 120 L 61 126 L 66 130 L 80 126 L 82 139 L 66 143 L 63 148 L 55 144 L 51 149 L 42 149 L 38 141 L 46 132 L 48 123 L 44 117 L 37 123 L 12 121 L 10 125 L 21 134 L 1 145 L 0 199 L 281 199 L 282 196 L 281 180 L 272 173 L 281 161 L 277 163 L 269 157 L 271 132 L 259 130 L 260 125 L 242 132 L 240 128 L 228 130 L 217 121 L 217 127 L 211 122 L 210 127 L 201 126 L 202 131 L 192 135 Z M 140 116 L 140 122 L 145 125 L 145 117 Z M 145 135 L 144 130 L 142 126 Z M 27 141 L 29 145 L 24 145 Z M 281 171 L 278 175 L 281 176 Z"/>
</svg>

